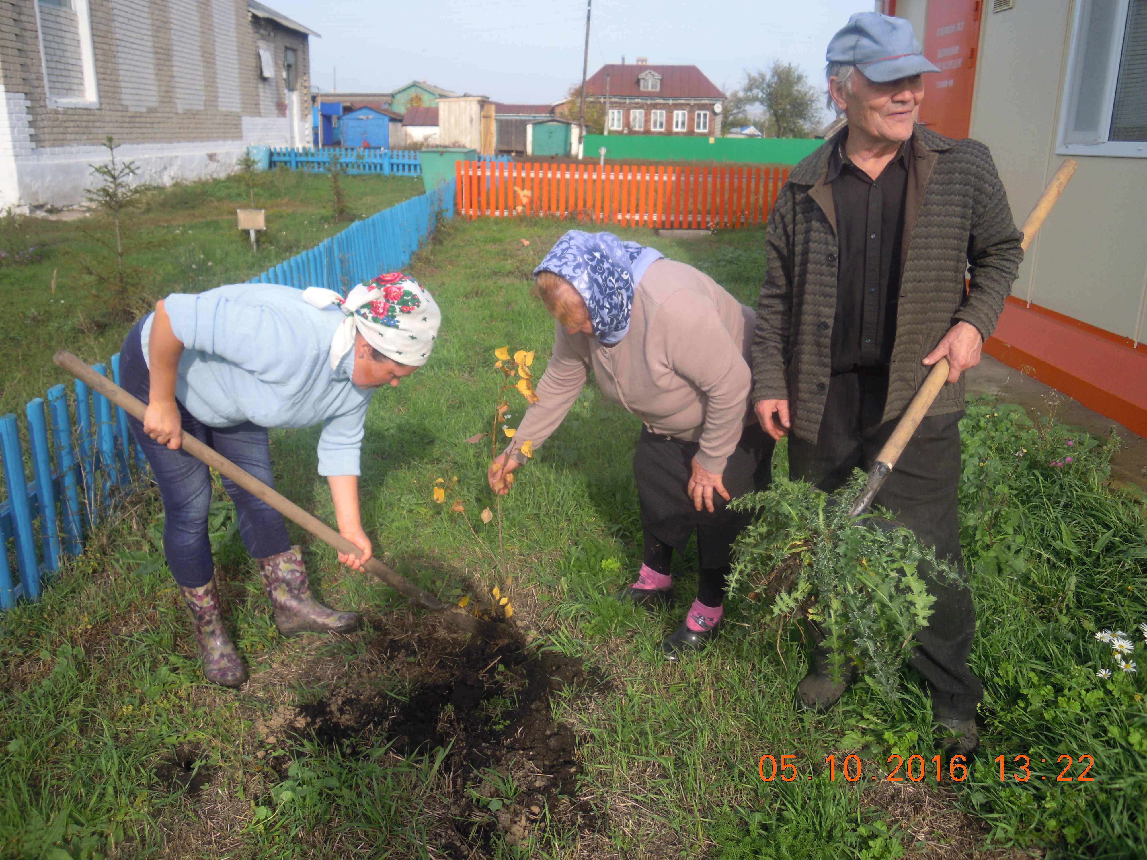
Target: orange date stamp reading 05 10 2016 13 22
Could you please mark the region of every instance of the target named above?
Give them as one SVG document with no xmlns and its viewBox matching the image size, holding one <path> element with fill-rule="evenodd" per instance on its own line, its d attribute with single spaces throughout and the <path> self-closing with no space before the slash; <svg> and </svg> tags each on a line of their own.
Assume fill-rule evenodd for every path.
<svg viewBox="0 0 1147 860">
<path fill-rule="evenodd" d="M 798 756 L 780 756 L 779 758 L 780 761 L 778 763 L 778 758 L 768 753 L 760 757 L 757 771 L 762 780 L 772 782 L 780 776 L 785 782 L 793 782 L 801 776 L 801 771 L 805 769 L 797 766 L 796 760 L 799 758 Z M 1041 768 L 1038 765 L 1033 765 L 1033 760 L 1031 756 L 1023 753 L 1013 756 L 1011 760 L 1007 760 L 1005 756 L 997 756 L 996 764 L 999 766 L 1000 780 L 1015 780 L 1016 782 L 1027 782 L 1031 779 L 1054 779 L 1056 782 L 1095 781 L 1094 776 L 1089 775 L 1093 763 L 1092 757 L 1086 753 L 1078 758 L 1072 758 L 1066 753 L 1060 756 L 1055 759 L 1055 767 L 1051 768 L 1048 773 L 1039 773 Z M 1039 758 L 1038 760 L 1040 765 L 1051 764 L 1046 758 Z M 868 779 L 884 780 L 887 782 L 903 782 L 905 777 L 912 782 L 921 782 L 926 779 L 935 779 L 936 782 L 944 780 L 963 782 L 968 779 L 968 767 L 969 764 L 963 756 L 953 756 L 949 759 L 945 767 L 943 756 L 938 755 L 933 756 L 930 759 L 926 759 L 923 756 L 908 756 L 905 759 L 903 756 L 892 755 L 888 757 L 887 772 L 881 768 L 882 775 L 881 773 L 869 773 Z M 1072 771 L 1078 768 L 1083 768 L 1079 775 L 1072 775 Z M 845 756 L 844 760 L 840 764 L 840 768 L 837 768 L 836 756 L 827 756 L 820 773 L 835 782 L 837 769 L 840 769 L 841 775 L 849 782 L 857 782 L 864 777 L 860 757 L 856 755 Z M 1059 769 L 1058 774 L 1056 769 Z M 811 780 L 814 774 L 810 768 L 807 779 Z"/>
</svg>

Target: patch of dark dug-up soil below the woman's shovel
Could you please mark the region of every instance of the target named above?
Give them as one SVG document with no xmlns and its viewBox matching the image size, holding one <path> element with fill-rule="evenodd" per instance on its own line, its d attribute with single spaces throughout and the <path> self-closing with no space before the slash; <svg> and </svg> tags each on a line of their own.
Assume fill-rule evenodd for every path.
<svg viewBox="0 0 1147 860">
<path fill-rule="evenodd" d="M 549 706 L 552 693 L 596 690 L 600 681 L 580 660 L 538 654 L 510 625 L 497 627 L 500 638 L 481 639 L 413 620 L 390 626 L 370 641 L 351 682 L 297 709 L 320 743 L 344 755 L 387 742 L 404 756 L 448 745 L 450 805 L 429 834 L 448 857 L 482 857 L 499 831 L 520 844 L 547 818 L 601 826 L 576 800 L 574 730 L 555 722 Z"/>
</svg>

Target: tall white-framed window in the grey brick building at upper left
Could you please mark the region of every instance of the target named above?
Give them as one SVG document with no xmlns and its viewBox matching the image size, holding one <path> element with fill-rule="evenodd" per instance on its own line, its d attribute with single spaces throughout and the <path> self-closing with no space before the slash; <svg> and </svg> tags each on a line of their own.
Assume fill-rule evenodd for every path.
<svg viewBox="0 0 1147 860">
<path fill-rule="evenodd" d="M 48 107 L 99 107 L 88 0 L 38 0 L 36 23 Z"/>
</svg>

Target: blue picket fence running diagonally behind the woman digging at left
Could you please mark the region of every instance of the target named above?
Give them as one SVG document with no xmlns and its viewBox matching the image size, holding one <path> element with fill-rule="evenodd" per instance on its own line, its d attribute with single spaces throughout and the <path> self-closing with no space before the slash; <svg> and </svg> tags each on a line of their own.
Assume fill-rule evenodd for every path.
<svg viewBox="0 0 1147 860">
<path fill-rule="evenodd" d="M 273 266 L 251 283 L 349 286 L 405 267 L 434 230 L 453 216 L 454 181 L 352 224 L 310 251 Z M 119 355 L 110 378 L 119 383 Z M 106 365 L 93 369 L 107 376 Z M 131 436 L 127 413 L 75 380 L 72 392 L 53 385 L 24 411 L 28 452 L 15 414 L 0 417 L 0 610 L 40 597 L 64 556 L 84 552 L 84 539 L 148 474 Z M 17 577 L 13 578 L 10 557 Z"/>
</svg>

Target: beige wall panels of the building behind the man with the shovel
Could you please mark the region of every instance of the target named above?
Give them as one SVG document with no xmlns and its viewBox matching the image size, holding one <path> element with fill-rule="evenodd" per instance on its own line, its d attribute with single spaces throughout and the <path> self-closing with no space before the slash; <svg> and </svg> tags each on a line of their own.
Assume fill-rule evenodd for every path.
<svg viewBox="0 0 1147 860">
<path fill-rule="evenodd" d="M 982 19 L 972 136 L 991 147 L 1016 224 L 1063 162 L 1055 144 L 1070 14 L 1070 0 L 1039 0 L 985 10 Z M 1077 161 L 1013 292 L 1030 291 L 1038 305 L 1134 337 L 1147 272 L 1147 158 Z"/>
</svg>

